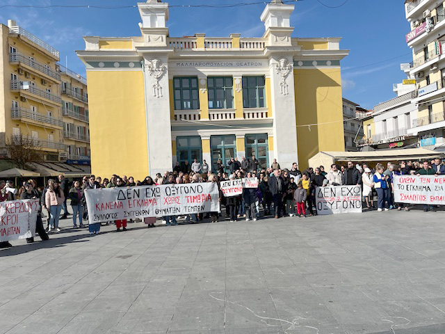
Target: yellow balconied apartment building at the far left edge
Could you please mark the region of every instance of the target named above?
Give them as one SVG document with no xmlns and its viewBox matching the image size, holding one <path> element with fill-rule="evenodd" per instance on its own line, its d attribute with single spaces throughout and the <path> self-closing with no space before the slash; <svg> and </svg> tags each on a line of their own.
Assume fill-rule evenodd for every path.
<svg viewBox="0 0 445 334">
<path fill-rule="evenodd" d="M 0 154 L 6 143 L 28 138 L 47 161 L 58 161 L 63 144 L 59 52 L 13 20 L 0 24 Z"/>
</svg>

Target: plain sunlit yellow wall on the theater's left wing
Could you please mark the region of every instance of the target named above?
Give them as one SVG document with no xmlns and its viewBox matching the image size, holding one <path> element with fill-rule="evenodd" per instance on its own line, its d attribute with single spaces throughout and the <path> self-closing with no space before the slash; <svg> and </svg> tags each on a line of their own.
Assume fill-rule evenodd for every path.
<svg viewBox="0 0 445 334">
<path fill-rule="evenodd" d="M 92 173 L 148 175 L 143 72 L 88 71 Z"/>
</svg>

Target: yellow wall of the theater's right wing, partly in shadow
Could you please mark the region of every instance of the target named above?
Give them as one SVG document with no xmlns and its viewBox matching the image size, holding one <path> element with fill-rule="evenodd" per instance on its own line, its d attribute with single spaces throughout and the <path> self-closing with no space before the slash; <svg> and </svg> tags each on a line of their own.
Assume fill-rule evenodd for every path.
<svg viewBox="0 0 445 334">
<path fill-rule="evenodd" d="M 294 79 L 298 161 L 305 169 L 320 151 L 345 150 L 341 74 L 332 68 L 300 69 L 294 70 Z"/>
</svg>

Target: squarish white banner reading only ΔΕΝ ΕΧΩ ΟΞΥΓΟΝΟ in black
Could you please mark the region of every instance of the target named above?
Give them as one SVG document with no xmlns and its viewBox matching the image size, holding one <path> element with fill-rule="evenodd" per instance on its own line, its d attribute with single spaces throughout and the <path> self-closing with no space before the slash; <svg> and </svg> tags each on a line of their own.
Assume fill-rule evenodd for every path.
<svg viewBox="0 0 445 334">
<path fill-rule="evenodd" d="M 317 186 L 317 214 L 346 214 L 362 212 L 361 186 Z"/>
</svg>

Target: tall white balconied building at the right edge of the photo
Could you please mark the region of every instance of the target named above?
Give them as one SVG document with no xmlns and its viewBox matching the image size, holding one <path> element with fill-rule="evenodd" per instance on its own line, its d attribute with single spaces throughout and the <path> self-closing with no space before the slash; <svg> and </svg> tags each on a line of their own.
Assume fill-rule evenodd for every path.
<svg viewBox="0 0 445 334">
<path fill-rule="evenodd" d="M 410 75 L 416 79 L 411 103 L 418 110 L 407 135 L 419 138 L 429 149 L 445 148 L 445 10 L 444 1 L 406 1 L 405 15 L 411 31 L 406 35 L 412 49 Z"/>
</svg>

